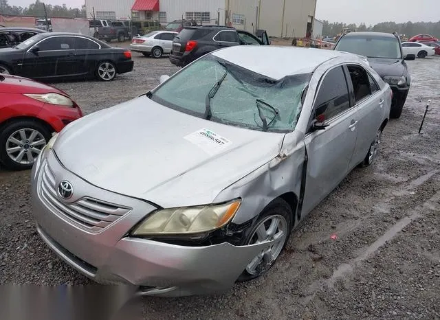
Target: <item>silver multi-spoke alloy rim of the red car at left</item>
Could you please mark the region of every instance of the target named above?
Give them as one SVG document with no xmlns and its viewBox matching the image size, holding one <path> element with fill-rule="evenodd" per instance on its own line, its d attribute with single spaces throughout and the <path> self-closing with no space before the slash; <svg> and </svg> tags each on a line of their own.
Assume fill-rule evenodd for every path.
<svg viewBox="0 0 440 320">
<path fill-rule="evenodd" d="M 12 161 L 19 164 L 34 163 L 41 150 L 46 146 L 42 133 L 31 128 L 15 131 L 6 140 L 6 152 Z"/>
</svg>

